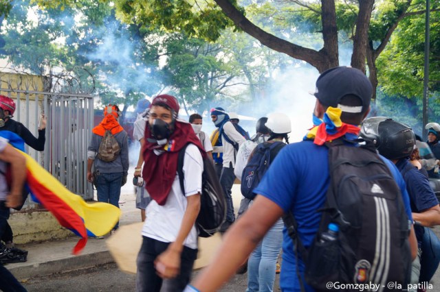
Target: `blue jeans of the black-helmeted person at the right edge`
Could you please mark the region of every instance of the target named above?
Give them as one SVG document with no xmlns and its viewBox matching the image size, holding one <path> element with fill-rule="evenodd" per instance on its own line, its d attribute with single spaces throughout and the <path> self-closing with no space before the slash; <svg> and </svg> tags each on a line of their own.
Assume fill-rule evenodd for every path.
<svg viewBox="0 0 440 292">
<path fill-rule="evenodd" d="M 440 240 L 431 228 L 425 227 L 423 229 L 425 232 L 421 241 L 419 283 L 429 282 L 440 263 Z"/>
</svg>

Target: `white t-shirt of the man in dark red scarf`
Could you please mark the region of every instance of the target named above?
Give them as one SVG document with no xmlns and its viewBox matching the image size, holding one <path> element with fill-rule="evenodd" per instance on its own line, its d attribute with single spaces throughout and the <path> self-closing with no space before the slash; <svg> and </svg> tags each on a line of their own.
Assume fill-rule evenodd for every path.
<svg viewBox="0 0 440 292">
<path fill-rule="evenodd" d="M 153 199 L 146 207 L 146 219 L 142 228 L 143 236 L 165 243 L 173 242 L 177 238 L 181 220 L 184 218 L 188 204 L 186 197 L 201 193 L 203 160 L 197 146 L 190 144 L 186 147 L 183 171 L 185 174 L 184 185 L 186 194 L 184 195 L 181 192 L 179 174 L 176 173 L 166 203 L 160 206 Z M 197 229 L 195 226 L 192 226 L 188 237 L 184 241 L 184 245 L 196 249 L 197 236 Z"/>
</svg>

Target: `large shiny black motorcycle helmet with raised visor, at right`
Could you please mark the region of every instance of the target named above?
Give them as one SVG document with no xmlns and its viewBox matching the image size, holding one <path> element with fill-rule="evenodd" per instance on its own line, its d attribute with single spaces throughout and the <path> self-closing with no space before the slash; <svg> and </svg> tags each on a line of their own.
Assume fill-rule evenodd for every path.
<svg viewBox="0 0 440 292">
<path fill-rule="evenodd" d="M 360 136 L 372 141 L 377 151 L 390 160 L 408 157 L 414 150 L 412 129 L 386 117 L 366 119 L 361 125 Z"/>
</svg>

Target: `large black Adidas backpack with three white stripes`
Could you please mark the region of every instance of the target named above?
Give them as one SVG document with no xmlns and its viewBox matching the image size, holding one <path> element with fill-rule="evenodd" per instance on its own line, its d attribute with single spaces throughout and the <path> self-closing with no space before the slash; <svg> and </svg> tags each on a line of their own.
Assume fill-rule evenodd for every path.
<svg viewBox="0 0 440 292">
<path fill-rule="evenodd" d="M 410 224 L 391 171 L 370 143 L 348 147 L 336 140 L 326 145 L 330 184 L 325 205 L 318 210 L 322 211 L 318 233 L 307 250 L 295 232 L 292 213 L 283 217 L 297 263 L 298 252 L 305 262 L 306 282 L 318 291 L 332 290 L 328 282 L 383 284 L 385 289 L 394 282 L 406 287 L 411 272 Z M 329 223 L 336 223 L 339 231 L 336 240 L 323 241 Z M 304 289 L 301 280 L 300 284 Z"/>
</svg>

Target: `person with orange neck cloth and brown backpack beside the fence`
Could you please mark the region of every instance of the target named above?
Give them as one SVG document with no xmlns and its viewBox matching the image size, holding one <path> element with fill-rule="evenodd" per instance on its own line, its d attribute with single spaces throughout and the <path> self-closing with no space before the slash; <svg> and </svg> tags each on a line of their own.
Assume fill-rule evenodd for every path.
<svg viewBox="0 0 440 292">
<path fill-rule="evenodd" d="M 104 119 L 92 130 L 91 140 L 87 149 L 87 180 L 93 182 L 98 193 L 98 201 L 110 203 L 119 208 L 119 198 L 121 186 L 126 183 L 129 171 L 129 141 L 128 135 L 119 124 L 120 110 L 118 106 L 109 104 L 104 108 Z M 98 149 L 106 130 L 111 130 L 111 134 L 118 141 L 121 149 L 120 154 L 115 160 L 105 162 L 98 158 Z M 92 165 L 95 170 L 91 171 Z M 119 227 L 116 223 L 111 234 Z M 102 239 L 103 236 L 97 237 Z"/>
</svg>

